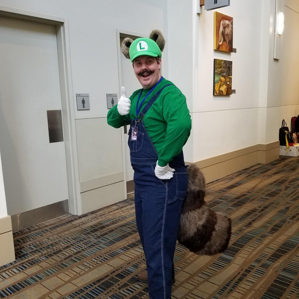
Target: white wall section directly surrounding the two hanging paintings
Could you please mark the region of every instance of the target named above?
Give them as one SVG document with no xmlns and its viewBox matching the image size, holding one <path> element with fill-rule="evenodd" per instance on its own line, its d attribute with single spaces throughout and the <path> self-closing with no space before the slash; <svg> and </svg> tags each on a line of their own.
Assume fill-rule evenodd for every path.
<svg viewBox="0 0 299 299">
<path fill-rule="evenodd" d="M 195 22 L 198 61 L 195 64 L 192 111 L 194 161 L 265 143 L 259 136 L 259 110 L 267 103 L 269 13 L 268 7 L 261 5 L 260 0 L 247 3 L 245 0 L 231 0 L 230 6 L 210 11 L 202 7 Z M 214 11 L 233 17 L 236 53 L 213 50 Z M 265 18 L 268 35 L 263 30 Z M 215 58 L 233 62 L 232 88 L 236 94 L 213 96 Z"/>
</svg>

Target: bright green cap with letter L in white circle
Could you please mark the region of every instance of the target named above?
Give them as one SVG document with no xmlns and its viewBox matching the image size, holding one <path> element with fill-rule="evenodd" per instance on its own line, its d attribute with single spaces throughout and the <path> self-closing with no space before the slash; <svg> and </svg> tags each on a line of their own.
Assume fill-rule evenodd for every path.
<svg viewBox="0 0 299 299">
<path fill-rule="evenodd" d="M 141 55 L 158 56 L 159 58 L 162 56 L 162 52 L 155 41 L 146 37 L 135 39 L 130 46 L 129 54 L 131 61 Z"/>
</svg>

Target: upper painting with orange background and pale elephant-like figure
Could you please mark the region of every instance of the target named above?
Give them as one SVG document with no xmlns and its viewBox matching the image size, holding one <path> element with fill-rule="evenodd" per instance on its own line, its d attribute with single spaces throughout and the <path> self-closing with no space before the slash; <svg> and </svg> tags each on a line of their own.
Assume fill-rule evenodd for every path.
<svg viewBox="0 0 299 299">
<path fill-rule="evenodd" d="M 233 18 L 214 12 L 214 50 L 233 51 Z"/>
</svg>

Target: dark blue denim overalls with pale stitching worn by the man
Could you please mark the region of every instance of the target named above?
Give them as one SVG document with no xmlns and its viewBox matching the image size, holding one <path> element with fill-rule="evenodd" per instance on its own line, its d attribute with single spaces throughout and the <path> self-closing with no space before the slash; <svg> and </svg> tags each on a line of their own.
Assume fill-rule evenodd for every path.
<svg viewBox="0 0 299 299">
<path fill-rule="evenodd" d="M 147 261 L 150 299 L 171 298 L 173 256 L 187 190 L 182 151 L 169 162 L 175 169 L 171 179 L 161 180 L 154 174 L 158 154 L 143 118 L 162 89 L 149 100 L 139 114 L 139 120 L 131 120 L 128 141 L 134 169 L 136 222 Z M 134 127 L 138 128 L 137 140 L 132 141 Z"/>
</svg>

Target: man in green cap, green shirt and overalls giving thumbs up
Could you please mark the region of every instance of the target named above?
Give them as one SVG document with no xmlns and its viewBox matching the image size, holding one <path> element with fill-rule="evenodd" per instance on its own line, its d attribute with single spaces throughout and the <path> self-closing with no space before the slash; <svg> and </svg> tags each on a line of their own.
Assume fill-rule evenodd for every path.
<svg viewBox="0 0 299 299">
<path fill-rule="evenodd" d="M 143 88 L 128 99 L 122 87 L 107 121 L 115 128 L 130 124 L 136 222 L 147 263 L 143 280 L 148 281 L 150 299 L 170 299 L 173 256 L 187 190 L 182 148 L 190 135 L 191 118 L 185 96 L 161 76 L 161 50 L 156 42 L 138 38 L 129 53 Z"/>
</svg>

